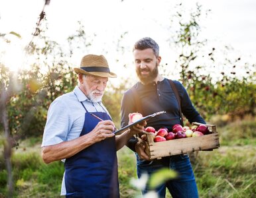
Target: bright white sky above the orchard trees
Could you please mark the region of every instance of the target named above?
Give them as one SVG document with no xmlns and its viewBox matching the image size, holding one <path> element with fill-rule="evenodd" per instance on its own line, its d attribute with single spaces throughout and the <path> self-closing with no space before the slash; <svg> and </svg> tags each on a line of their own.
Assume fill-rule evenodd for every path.
<svg viewBox="0 0 256 198">
<path fill-rule="evenodd" d="M 145 36 L 150 36 L 160 46 L 162 62 L 174 61 L 174 49 L 166 39 L 170 38 L 170 16 L 176 12 L 175 5 L 181 1 L 168 0 L 51 0 L 45 9 L 48 21 L 48 35 L 60 44 L 78 28 L 78 20 L 86 27 L 87 34 L 97 34 L 94 45 L 89 53 L 101 54 L 102 46 L 111 46 L 124 32 L 123 46 L 129 54 L 118 57 L 113 47 L 105 54 L 109 65 L 113 66 L 117 75 L 125 77 L 123 67 L 118 64 L 131 63 L 133 44 Z M 201 36 L 207 38 L 209 46 L 231 46 L 235 53 L 245 59 L 255 60 L 256 57 L 256 1 L 254 0 L 216 0 L 216 1 L 182 1 L 185 13 L 195 9 L 196 3 L 202 10 L 211 10 L 202 16 Z M 21 50 L 32 39 L 38 15 L 42 11 L 43 0 L 0 0 L 0 33 L 11 31 L 21 34 L 22 39 L 11 37 L 13 44 L 7 49 L 3 62 L 11 69 L 19 67 L 23 55 Z M 184 16 L 186 18 L 186 16 Z M 3 43 L 2 43 L 3 44 Z M 1 43 L 0 43 L 1 45 Z M 10 46 L 10 45 L 9 45 Z M 3 49 L 3 46 L 2 46 Z M 1 50 L 1 46 L 0 46 Z M 80 64 L 84 51 L 78 51 L 72 62 Z M 13 57 L 16 57 L 15 59 Z M 129 67 L 126 75 L 134 74 Z"/>
</svg>

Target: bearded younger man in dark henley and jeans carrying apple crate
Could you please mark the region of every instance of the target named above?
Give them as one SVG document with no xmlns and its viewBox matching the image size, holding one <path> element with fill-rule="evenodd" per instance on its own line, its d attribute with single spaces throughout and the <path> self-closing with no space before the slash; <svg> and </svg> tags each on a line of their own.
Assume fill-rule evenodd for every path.
<svg viewBox="0 0 256 198">
<path fill-rule="evenodd" d="M 172 125 L 181 123 L 181 117 L 178 101 L 170 82 L 159 75 L 158 66 L 161 57 L 159 56 L 158 44 L 151 38 L 142 38 L 135 43 L 133 55 L 139 82 L 127 90 L 123 96 L 121 125 L 127 125 L 128 115 L 132 112 L 140 112 L 143 116 L 147 116 L 155 112 L 166 111 L 166 114 L 147 121 L 147 126 L 155 127 L 157 130 L 160 127 L 172 129 Z M 178 81 L 173 82 L 180 96 L 182 114 L 186 116 L 190 123 L 193 121 L 205 123 L 204 119 L 192 106 L 184 86 Z M 144 144 L 145 142 L 138 141 L 134 137 L 127 143 L 127 146 L 135 151 L 137 156 L 137 175 L 139 178 L 143 173 L 152 174 L 160 168 L 171 168 L 178 172 L 179 177 L 160 185 L 156 189 L 159 197 L 165 197 L 166 187 L 174 198 L 198 197 L 194 173 L 187 154 L 164 157 L 160 160 L 149 160 L 149 156 L 144 150 Z M 143 190 L 143 194 L 147 191 L 148 188 Z"/>
</svg>

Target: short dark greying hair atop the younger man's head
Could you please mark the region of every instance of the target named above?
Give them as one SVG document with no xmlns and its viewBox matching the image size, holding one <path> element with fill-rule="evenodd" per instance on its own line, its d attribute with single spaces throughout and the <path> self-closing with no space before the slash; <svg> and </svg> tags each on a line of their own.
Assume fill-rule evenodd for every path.
<svg viewBox="0 0 256 198">
<path fill-rule="evenodd" d="M 157 42 L 155 42 L 155 40 L 149 37 L 141 38 L 138 40 L 133 46 L 133 51 L 135 49 L 143 50 L 148 48 L 153 49 L 155 56 L 159 57 L 159 45 Z"/>
</svg>

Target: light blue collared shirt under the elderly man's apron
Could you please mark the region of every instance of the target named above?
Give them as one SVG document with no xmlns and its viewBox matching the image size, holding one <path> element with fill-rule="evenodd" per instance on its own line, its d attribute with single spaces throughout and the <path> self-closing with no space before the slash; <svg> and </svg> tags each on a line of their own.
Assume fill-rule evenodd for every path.
<svg viewBox="0 0 256 198">
<path fill-rule="evenodd" d="M 76 86 L 73 92 L 59 96 L 50 104 L 42 137 L 42 147 L 56 145 L 80 137 L 86 113 L 81 102 L 88 112 L 107 112 L 101 102 L 91 102 Z M 61 195 L 66 195 L 64 176 Z"/>
</svg>

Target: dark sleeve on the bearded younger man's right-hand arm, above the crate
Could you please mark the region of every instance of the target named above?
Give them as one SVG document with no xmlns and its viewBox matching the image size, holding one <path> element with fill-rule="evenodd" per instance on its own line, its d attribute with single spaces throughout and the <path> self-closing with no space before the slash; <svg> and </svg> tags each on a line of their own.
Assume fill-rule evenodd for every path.
<svg viewBox="0 0 256 198">
<path fill-rule="evenodd" d="M 188 119 L 190 123 L 192 122 L 199 122 L 199 123 L 206 123 L 202 116 L 197 112 L 196 108 L 194 108 L 190 97 L 188 96 L 188 92 L 186 91 L 186 88 L 184 86 L 176 81 L 176 85 L 178 86 L 178 90 L 180 90 L 180 98 L 181 98 L 181 109 L 182 114 Z"/>
</svg>

